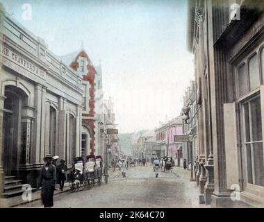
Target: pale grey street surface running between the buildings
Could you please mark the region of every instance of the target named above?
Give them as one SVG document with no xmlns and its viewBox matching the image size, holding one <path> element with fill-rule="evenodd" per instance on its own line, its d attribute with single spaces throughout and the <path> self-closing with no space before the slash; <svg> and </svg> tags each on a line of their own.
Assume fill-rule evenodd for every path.
<svg viewBox="0 0 264 222">
<path fill-rule="evenodd" d="M 199 191 L 190 182 L 190 171 L 174 167 L 155 178 L 153 167 L 129 167 L 126 178 L 116 169 L 109 182 L 99 187 L 67 191 L 54 196 L 54 207 L 137 208 L 137 207 L 210 207 L 199 205 Z M 43 207 L 41 200 L 19 207 Z"/>
</svg>

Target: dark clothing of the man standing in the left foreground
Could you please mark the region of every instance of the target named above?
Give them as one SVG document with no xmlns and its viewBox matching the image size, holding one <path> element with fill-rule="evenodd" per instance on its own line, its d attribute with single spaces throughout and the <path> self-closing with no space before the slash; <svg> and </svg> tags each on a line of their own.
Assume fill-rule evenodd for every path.
<svg viewBox="0 0 264 222">
<path fill-rule="evenodd" d="M 46 167 L 48 169 L 46 170 Z M 56 183 L 56 167 L 45 164 L 40 171 L 41 198 L 44 207 L 53 207 L 53 192 Z"/>
</svg>

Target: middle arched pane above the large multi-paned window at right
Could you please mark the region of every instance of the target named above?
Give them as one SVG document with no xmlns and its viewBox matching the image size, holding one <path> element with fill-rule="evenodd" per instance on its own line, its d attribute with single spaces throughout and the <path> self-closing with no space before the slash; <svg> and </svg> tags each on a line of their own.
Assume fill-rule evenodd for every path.
<svg viewBox="0 0 264 222">
<path fill-rule="evenodd" d="M 256 89 L 260 85 L 257 54 L 249 60 L 249 85 L 250 90 Z"/>
</svg>

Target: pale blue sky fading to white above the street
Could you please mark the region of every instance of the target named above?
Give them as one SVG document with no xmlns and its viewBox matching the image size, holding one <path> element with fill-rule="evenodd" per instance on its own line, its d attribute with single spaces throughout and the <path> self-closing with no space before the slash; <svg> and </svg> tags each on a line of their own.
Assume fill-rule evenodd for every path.
<svg viewBox="0 0 264 222">
<path fill-rule="evenodd" d="M 81 48 L 103 72 L 104 98 L 114 102 L 119 133 L 154 129 L 177 117 L 194 78 L 186 47 L 186 0 L 0 0 L 57 56 Z M 22 15 L 24 3 L 31 20 Z"/>
</svg>

